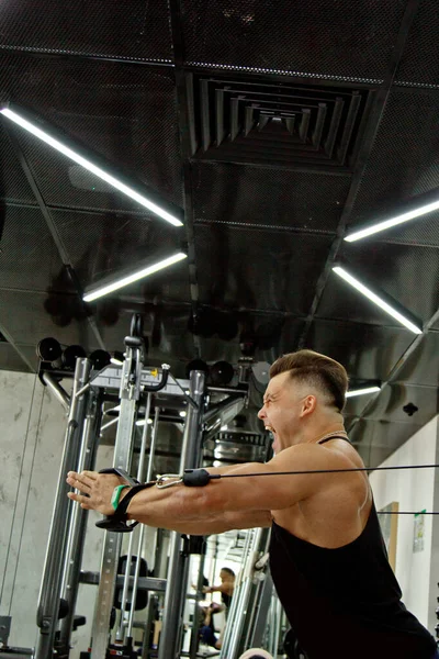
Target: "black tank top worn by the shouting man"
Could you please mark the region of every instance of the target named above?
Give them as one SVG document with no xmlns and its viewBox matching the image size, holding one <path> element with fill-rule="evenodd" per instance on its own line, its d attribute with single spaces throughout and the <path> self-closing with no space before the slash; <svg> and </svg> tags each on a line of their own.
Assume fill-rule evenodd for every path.
<svg viewBox="0 0 439 659">
<path fill-rule="evenodd" d="M 308 659 L 432 659 L 434 637 L 401 602 L 374 503 L 362 534 L 337 549 L 273 522 L 270 569 Z"/>
</svg>

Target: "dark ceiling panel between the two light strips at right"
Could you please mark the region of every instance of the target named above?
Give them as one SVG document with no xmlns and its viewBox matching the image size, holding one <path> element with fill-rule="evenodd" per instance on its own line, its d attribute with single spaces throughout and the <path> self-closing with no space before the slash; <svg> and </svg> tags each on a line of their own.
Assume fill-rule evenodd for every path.
<svg viewBox="0 0 439 659">
<path fill-rule="evenodd" d="M 391 295 L 420 321 L 428 321 L 439 308 L 438 248 L 374 243 L 372 237 L 345 243 L 341 255 L 348 258 L 346 268 L 352 276 L 367 278 L 376 292 Z"/>
</svg>

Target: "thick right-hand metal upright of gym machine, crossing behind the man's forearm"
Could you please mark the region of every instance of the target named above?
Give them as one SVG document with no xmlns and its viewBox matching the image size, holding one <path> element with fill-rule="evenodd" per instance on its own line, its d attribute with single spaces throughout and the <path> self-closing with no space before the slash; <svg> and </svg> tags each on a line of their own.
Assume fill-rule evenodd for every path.
<svg viewBox="0 0 439 659">
<path fill-rule="evenodd" d="M 188 406 L 183 432 L 180 473 L 184 469 L 199 465 L 202 438 L 202 418 L 204 411 L 205 373 L 191 371 L 190 395 L 198 403 L 195 410 Z M 164 626 L 160 636 L 158 659 L 177 659 L 180 656 L 180 637 L 182 628 L 182 610 L 188 580 L 188 556 L 182 548 L 181 534 L 172 532 L 169 572 L 165 595 Z"/>
</svg>

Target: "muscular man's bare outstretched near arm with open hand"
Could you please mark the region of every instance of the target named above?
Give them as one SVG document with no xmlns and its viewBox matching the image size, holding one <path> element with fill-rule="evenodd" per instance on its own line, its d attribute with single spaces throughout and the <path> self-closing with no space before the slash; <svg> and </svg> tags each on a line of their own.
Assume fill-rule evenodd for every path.
<svg viewBox="0 0 439 659">
<path fill-rule="evenodd" d="M 352 473 L 296 473 L 284 471 L 308 471 L 349 469 L 352 462 L 342 454 L 326 450 L 313 444 L 303 444 L 284 449 L 272 460 L 262 465 L 247 462 L 219 469 L 210 468 L 211 473 L 245 478 L 213 480 L 201 488 L 178 484 L 167 489 L 150 488 L 132 499 L 128 516 L 150 526 L 180 529 L 190 523 L 200 525 L 218 521 L 228 513 L 255 513 L 258 511 L 283 510 L 302 501 L 323 488 L 339 487 L 342 479 L 351 481 Z M 268 476 L 274 472 L 273 476 Z M 249 476 L 256 474 L 256 476 Z M 112 474 L 86 471 L 69 472 L 67 481 L 89 496 L 69 493 L 85 509 L 94 509 L 105 515 L 113 513 L 110 504 L 115 485 L 122 481 Z M 126 491 L 122 492 L 123 499 Z M 254 526 L 254 524 L 249 525 Z M 225 524 L 224 530 L 236 527 Z M 216 528 L 216 527 L 215 527 Z"/>
</svg>

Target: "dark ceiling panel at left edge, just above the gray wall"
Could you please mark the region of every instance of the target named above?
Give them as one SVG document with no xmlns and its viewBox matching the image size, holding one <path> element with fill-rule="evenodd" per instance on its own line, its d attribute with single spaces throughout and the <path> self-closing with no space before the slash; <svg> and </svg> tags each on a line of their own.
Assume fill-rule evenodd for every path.
<svg viewBox="0 0 439 659">
<path fill-rule="evenodd" d="M 67 325 L 60 326 L 45 310 L 48 295 L 37 292 L 3 291 L 0 289 L 1 324 L 16 344 L 36 344 L 47 336 L 54 336 L 64 345 L 79 344 L 93 346 L 95 338 L 87 321 L 71 319 Z M 65 309 L 64 322 L 67 322 L 66 297 L 58 298 L 59 305 Z M 75 310 L 78 306 L 75 305 Z M 13 310 L 13 311 L 12 311 Z"/>
</svg>

